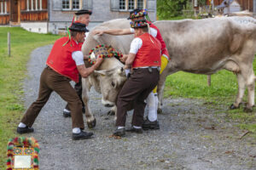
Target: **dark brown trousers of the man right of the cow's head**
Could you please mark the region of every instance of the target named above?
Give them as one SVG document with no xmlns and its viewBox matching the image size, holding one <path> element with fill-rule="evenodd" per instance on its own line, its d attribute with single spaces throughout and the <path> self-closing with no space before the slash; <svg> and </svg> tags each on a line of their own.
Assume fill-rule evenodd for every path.
<svg viewBox="0 0 256 170">
<path fill-rule="evenodd" d="M 134 69 L 131 77 L 125 82 L 117 101 L 116 126 L 125 127 L 126 114 L 129 105 L 133 102 L 134 112 L 131 124 L 141 127 L 148 94 L 154 89 L 160 79 L 160 72 L 157 69 L 148 71 L 148 68 Z"/>
</svg>

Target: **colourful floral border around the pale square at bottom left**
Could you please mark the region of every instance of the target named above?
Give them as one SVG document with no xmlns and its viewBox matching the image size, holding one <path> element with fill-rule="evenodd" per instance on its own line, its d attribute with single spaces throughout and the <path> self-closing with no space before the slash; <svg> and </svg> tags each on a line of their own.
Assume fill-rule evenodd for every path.
<svg viewBox="0 0 256 170">
<path fill-rule="evenodd" d="M 14 167 L 14 155 L 20 154 L 20 149 L 15 147 L 20 146 L 26 148 L 26 154 L 32 154 L 32 169 L 38 170 L 39 169 L 39 161 L 38 161 L 38 154 L 39 154 L 39 144 L 38 141 L 34 138 L 25 138 L 25 137 L 16 137 L 14 139 L 9 139 L 7 145 L 7 162 L 6 162 L 6 170 L 13 170 Z"/>
</svg>

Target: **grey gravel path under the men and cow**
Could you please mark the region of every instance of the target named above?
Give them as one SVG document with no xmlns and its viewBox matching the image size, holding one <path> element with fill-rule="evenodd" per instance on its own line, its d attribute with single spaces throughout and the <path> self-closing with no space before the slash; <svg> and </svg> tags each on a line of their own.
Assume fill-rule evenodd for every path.
<svg viewBox="0 0 256 170">
<path fill-rule="evenodd" d="M 35 49 L 27 65 L 25 105 L 37 99 L 41 71 L 52 45 Z M 159 115 L 160 130 L 127 133 L 113 139 L 113 116 L 90 92 L 97 125 L 86 131 L 93 139 L 73 141 L 70 118 L 62 116 L 66 103 L 53 93 L 34 123 L 40 144 L 40 169 L 256 169 L 256 141 L 233 122 L 225 122 L 225 109 L 212 109 L 200 100 L 165 99 Z M 219 113 L 220 112 L 220 113 Z M 127 119 L 131 122 L 131 114 Z"/>
</svg>

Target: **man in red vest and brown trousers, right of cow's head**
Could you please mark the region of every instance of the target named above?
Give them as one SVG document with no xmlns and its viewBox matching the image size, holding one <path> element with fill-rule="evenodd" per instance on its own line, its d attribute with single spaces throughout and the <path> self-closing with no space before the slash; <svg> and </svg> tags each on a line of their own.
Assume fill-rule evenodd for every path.
<svg viewBox="0 0 256 170">
<path fill-rule="evenodd" d="M 143 133 L 144 100 L 157 85 L 160 78 L 160 42 L 148 34 L 146 20 L 135 20 L 131 23 L 134 28 L 134 39 L 131 42 L 130 53 L 125 60 L 125 70 L 132 69 L 121 89 L 117 101 L 116 130 L 113 135 L 125 135 L 127 107 L 134 103 L 131 128 L 127 131 Z M 127 71 L 125 71 L 127 72 Z"/>
</svg>

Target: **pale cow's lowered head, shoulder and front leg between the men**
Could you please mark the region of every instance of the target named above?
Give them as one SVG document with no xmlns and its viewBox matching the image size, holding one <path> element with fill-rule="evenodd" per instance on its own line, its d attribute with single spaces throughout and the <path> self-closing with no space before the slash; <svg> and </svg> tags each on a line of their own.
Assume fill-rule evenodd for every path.
<svg viewBox="0 0 256 170">
<path fill-rule="evenodd" d="M 94 29 L 109 29 L 109 28 L 124 28 L 130 27 L 128 20 L 112 20 L 96 26 Z M 92 30 L 93 31 L 93 30 Z M 109 35 L 103 35 L 101 37 L 94 36 L 90 31 L 89 35 L 84 41 L 82 51 L 84 54 L 89 54 L 90 49 L 95 48 L 99 44 L 111 45 L 117 51 L 123 54 L 128 54 L 130 42 L 133 38 L 130 36 L 113 37 Z M 89 66 L 89 63 L 85 63 Z M 124 65 L 116 58 L 104 59 L 102 65 L 91 74 L 88 78 L 82 78 L 83 92 L 82 98 L 85 105 L 85 116 L 88 127 L 96 126 L 96 118 L 90 111 L 88 92 L 93 86 L 96 92 L 102 94 L 102 104 L 107 107 L 112 107 L 109 114 L 116 113 L 116 100 L 119 94 L 119 90 L 122 88 L 123 83 L 126 80 L 125 71 L 122 67 Z"/>
</svg>

